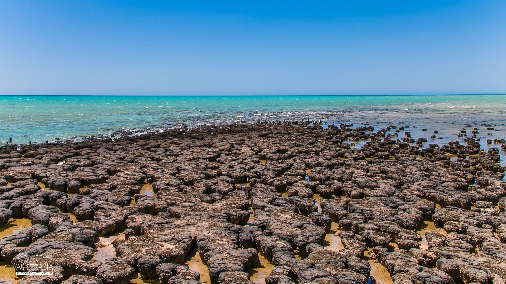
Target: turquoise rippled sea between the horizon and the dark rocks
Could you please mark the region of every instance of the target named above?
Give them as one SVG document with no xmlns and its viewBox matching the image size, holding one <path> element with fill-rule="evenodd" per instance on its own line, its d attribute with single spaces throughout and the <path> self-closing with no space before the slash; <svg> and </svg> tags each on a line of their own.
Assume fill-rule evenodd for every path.
<svg viewBox="0 0 506 284">
<path fill-rule="evenodd" d="M 118 129 L 321 119 L 329 123 L 405 122 L 438 130 L 493 124 L 502 137 L 506 96 L 0 96 L 0 142 L 43 143 Z M 371 124 L 372 125 L 372 124 Z M 379 125 L 378 125 L 379 126 Z"/>
</svg>

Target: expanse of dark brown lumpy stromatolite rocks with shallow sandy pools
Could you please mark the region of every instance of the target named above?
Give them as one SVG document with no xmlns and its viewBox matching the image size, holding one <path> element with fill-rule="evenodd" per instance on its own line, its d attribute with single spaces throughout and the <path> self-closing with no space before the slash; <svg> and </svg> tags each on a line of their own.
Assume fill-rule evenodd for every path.
<svg viewBox="0 0 506 284">
<path fill-rule="evenodd" d="M 502 150 L 431 134 L 257 123 L 3 146 L 0 278 L 502 284 Z"/>
</svg>

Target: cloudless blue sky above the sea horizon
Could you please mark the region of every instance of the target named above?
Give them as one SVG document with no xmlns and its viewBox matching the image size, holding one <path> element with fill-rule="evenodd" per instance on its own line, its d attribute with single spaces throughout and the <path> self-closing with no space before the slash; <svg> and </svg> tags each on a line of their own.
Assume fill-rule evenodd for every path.
<svg viewBox="0 0 506 284">
<path fill-rule="evenodd" d="M 0 0 L 0 94 L 506 93 L 506 1 Z"/>
</svg>

